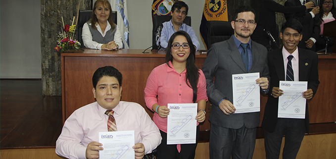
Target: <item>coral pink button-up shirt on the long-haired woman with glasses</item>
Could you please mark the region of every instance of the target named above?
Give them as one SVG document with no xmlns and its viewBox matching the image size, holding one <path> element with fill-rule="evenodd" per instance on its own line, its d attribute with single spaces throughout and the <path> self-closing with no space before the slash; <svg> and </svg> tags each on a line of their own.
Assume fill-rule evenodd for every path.
<svg viewBox="0 0 336 159">
<path fill-rule="evenodd" d="M 155 103 L 159 106 L 193 103 L 192 88 L 186 83 L 186 70 L 180 74 L 174 69 L 170 61 L 169 65 L 172 68 L 166 63 L 155 67 L 148 76 L 147 84 L 144 89 L 144 101 L 149 109 L 151 109 Z M 199 69 L 198 72 L 199 78 L 196 102 L 199 100 L 207 101 L 205 76 L 202 70 Z M 157 113 L 154 113 L 153 121 L 161 131 L 167 133 L 167 118 L 162 118 Z"/>
</svg>

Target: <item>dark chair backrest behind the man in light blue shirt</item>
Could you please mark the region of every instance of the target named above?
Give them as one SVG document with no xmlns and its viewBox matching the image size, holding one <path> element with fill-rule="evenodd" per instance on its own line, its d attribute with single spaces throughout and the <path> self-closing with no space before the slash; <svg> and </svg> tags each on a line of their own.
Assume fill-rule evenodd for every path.
<svg viewBox="0 0 336 159">
<path fill-rule="evenodd" d="M 156 45 L 156 31 L 160 24 L 169 21 L 172 18 L 171 15 L 153 15 L 153 33 L 152 33 L 152 49 L 157 49 Z M 186 16 L 183 23 L 186 23 L 189 26 L 192 26 L 192 17 Z"/>
</svg>

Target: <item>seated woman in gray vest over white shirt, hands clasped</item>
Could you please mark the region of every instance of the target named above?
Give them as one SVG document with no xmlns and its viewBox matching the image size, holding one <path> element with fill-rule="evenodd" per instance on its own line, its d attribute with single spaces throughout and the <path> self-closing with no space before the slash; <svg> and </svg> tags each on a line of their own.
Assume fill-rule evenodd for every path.
<svg viewBox="0 0 336 159">
<path fill-rule="evenodd" d="M 97 0 L 92 19 L 83 26 L 84 46 L 90 49 L 117 50 L 123 48 L 120 30 L 113 23 L 111 4 L 108 0 Z M 94 25 L 92 25 L 94 24 Z"/>
</svg>

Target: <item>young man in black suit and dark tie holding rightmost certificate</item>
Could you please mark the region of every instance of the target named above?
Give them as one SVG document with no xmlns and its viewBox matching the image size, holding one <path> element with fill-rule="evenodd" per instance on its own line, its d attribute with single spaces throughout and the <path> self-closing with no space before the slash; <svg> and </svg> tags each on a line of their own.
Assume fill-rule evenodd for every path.
<svg viewBox="0 0 336 159">
<path fill-rule="evenodd" d="M 285 81 L 285 79 L 286 81 L 307 81 L 308 88 L 307 91 L 302 92 L 302 97 L 307 100 L 312 99 L 320 84 L 317 68 L 318 55 L 297 47 L 302 40 L 302 25 L 296 19 L 289 19 L 283 24 L 280 38 L 284 47 L 269 52 L 267 57 L 271 82 L 262 127 L 265 129 L 266 159 L 279 159 L 284 132 L 286 142 L 283 158 L 295 159 L 305 131 L 309 131 L 308 104 L 306 103 L 304 119 L 278 118 L 278 97 L 284 94 L 283 90 L 279 89 L 279 81 Z M 292 72 L 292 75 L 289 75 L 289 72 Z"/>
</svg>

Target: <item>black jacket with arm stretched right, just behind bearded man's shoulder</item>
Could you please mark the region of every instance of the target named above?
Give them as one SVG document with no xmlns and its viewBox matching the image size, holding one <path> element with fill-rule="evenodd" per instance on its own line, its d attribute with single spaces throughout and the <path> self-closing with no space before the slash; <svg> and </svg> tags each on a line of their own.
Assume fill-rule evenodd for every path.
<svg viewBox="0 0 336 159">
<path fill-rule="evenodd" d="M 268 47 L 270 43 L 270 39 L 268 38 L 266 31 L 270 31 L 271 35 L 279 45 L 279 30 L 276 23 L 275 12 L 292 14 L 306 11 L 306 7 L 304 5 L 284 6 L 273 0 L 258 1 L 260 2 L 260 10 L 257 27 L 255 28 L 251 38 L 253 41 L 265 47 Z"/>
</svg>

